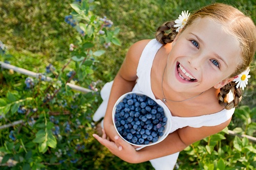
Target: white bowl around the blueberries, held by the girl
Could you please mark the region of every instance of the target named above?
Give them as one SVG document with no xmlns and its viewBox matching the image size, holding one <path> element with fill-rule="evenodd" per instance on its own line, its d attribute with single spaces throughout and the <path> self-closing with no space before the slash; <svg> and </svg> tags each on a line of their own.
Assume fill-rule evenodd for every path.
<svg viewBox="0 0 256 170">
<path fill-rule="evenodd" d="M 151 143 L 149 143 L 149 144 L 135 144 L 135 143 L 131 143 L 131 142 L 127 141 L 126 139 L 124 139 L 124 138 L 122 137 L 122 135 L 118 132 L 117 127 L 116 127 L 116 124 L 115 124 L 116 106 L 117 106 L 120 102 L 123 101 L 123 99 L 125 98 L 125 96 L 126 96 L 127 94 L 130 94 L 130 93 L 131 93 L 131 94 L 135 93 L 135 94 L 137 94 L 137 95 L 145 95 L 145 94 L 143 94 L 143 93 L 141 93 L 141 92 L 128 92 L 128 93 L 125 93 L 125 94 L 121 95 L 120 98 L 116 101 L 116 103 L 115 103 L 115 105 L 114 105 L 114 108 L 113 108 L 113 112 L 112 112 L 112 119 L 113 119 L 113 124 L 114 124 L 114 126 L 115 126 L 115 129 L 116 129 L 118 135 L 119 135 L 123 140 L 125 140 L 126 142 L 128 142 L 128 143 L 130 143 L 130 144 L 132 144 L 132 145 L 138 146 L 138 147 L 147 147 L 147 146 L 150 146 L 150 145 L 153 145 L 153 144 L 157 144 L 157 143 L 163 141 L 163 140 L 167 137 L 167 135 L 169 134 L 170 129 L 172 128 L 172 123 L 171 123 L 171 120 L 170 120 L 170 115 L 169 115 L 169 112 L 166 111 L 165 107 L 162 107 L 162 108 L 163 108 L 163 110 L 164 110 L 164 115 L 165 115 L 165 117 L 167 117 L 167 122 L 166 122 L 166 125 L 164 126 L 163 135 L 160 136 L 156 142 L 151 142 Z M 153 100 L 153 99 L 152 99 L 152 100 Z M 156 102 L 156 101 L 155 101 L 155 102 Z"/>
</svg>

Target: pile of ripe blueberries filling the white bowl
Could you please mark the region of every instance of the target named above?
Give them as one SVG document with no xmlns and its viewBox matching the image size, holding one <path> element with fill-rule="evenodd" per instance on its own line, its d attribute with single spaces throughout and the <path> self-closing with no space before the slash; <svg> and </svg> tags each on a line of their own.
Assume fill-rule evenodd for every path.
<svg viewBox="0 0 256 170">
<path fill-rule="evenodd" d="M 163 108 L 146 95 L 129 93 L 116 105 L 115 126 L 133 144 L 149 144 L 163 136 L 167 117 Z"/>
</svg>

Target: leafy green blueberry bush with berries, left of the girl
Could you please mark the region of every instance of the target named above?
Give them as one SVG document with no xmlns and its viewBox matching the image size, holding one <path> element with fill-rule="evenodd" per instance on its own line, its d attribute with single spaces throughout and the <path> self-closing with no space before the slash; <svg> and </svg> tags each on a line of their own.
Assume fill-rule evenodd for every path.
<svg viewBox="0 0 256 170">
<path fill-rule="evenodd" d="M 63 19 L 77 35 L 69 45 L 68 62 L 59 70 L 50 63 L 45 72 L 27 77 L 0 99 L 0 156 L 6 169 L 83 167 L 88 129 L 94 126 L 92 104 L 98 101 L 94 65 L 111 44 L 121 43 L 113 22 L 92 12 L 97 2 L 70 6 L 73 11 Z M 1 60 L 9 63 L 11 56 L 5 44 L 0 45 Z M 75 91 L 68 83 L 85 85 L 91 92 Z"/>
</svg>

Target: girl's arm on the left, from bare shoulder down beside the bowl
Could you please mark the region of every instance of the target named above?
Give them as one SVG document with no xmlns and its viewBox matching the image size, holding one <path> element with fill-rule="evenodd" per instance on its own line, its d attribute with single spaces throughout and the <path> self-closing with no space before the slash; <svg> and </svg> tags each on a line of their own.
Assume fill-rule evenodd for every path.
<svg viewBox="0 0 256 170">
<path fill-rule="evenodd" d="M 130 47 L 123 64 L 114 79 L 103 124 L 105 133 L 111 140 L 113 140 L 114 136 L 117 135 L 112 120 L 114 104 L 122 94 L 132 91 L 135 86 L 139 59 L 145 45 L 149 41 L 150 40 L 138 41 Z"/>
</svg>

